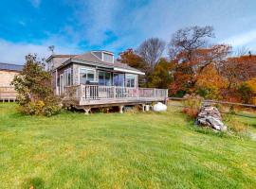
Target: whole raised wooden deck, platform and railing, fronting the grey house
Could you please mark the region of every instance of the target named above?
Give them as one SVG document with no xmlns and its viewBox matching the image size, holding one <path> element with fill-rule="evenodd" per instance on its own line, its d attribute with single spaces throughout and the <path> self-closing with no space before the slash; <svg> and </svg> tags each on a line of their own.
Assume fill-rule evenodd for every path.
<svg viewBox="0 0 256 189">
<path fill-rule="evenodd" d="M 64 94 L 76 106 L 106 107 L 164 102 L 168 90 L 116 86 L 78 85 L 65 87 Z"/>
</svg>

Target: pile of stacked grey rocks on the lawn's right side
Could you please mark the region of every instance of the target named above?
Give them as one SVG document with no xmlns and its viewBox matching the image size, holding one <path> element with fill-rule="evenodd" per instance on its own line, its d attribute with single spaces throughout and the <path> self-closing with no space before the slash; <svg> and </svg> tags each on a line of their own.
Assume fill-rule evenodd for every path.
<svg viewBox="0 0 256 189">
<path fill-rule="evenodd" d="M 195 123 L 199 126 L 210 127 L 211 129 L 220 131 L 227 130 L 227 126 L 222 122 L 221 113 L 217 108 L 210 106 L 209 104 L 203 105 L 197 115 Z"/>
</svg>

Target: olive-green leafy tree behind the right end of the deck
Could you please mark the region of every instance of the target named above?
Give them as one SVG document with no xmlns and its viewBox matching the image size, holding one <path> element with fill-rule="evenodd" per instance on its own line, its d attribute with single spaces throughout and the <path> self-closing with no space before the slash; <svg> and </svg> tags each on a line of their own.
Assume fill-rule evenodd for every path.
<svg viewBox="0 0 256 189">
<path fill-rule="evenodd" d="M 160 59 L 155 65 L 155 70 L 153 74 L 150 76 L 150 86 L 160 89 L 167 89 L 173 80 L 171 73 L 172 68 L 173 64 L 171 64 L 168 60 Z"/>
</svg>

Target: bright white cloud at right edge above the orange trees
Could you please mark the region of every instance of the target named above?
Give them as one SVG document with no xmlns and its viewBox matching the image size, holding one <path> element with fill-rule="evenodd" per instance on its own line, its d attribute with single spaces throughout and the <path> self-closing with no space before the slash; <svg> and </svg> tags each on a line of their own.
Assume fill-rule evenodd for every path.
<svg viewBox="0 0 256 189">
<path fill-rule="evenodd" d="M 250 30 L 245 33 L 231 36 L 229 39 L 223 41 L 223 43 L 229 43 L 235 47 L 248 46 L 256 43 L 256 29 Z"/>
</svg>

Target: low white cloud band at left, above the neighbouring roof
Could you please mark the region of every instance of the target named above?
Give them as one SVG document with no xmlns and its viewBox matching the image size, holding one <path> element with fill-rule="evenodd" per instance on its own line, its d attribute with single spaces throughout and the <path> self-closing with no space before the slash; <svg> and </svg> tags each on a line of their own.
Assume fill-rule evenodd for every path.
<svg viewBox="0 0 256 189">
<path fill-rule="evenodd" d="M 25 56 L 28 53 L 37 54 L 39 58 L 47 58 L 50 55 L 48 46 L 51 42 L 45 42 L 43 44 L 33 43 L 11 43 L 0 39 L 0 62 L 9 62 L 24 64 Z M 75 54 L 78 50 L 72 46 L 55 46 L 55 52 L 58 54 Z"/>
</svg>

